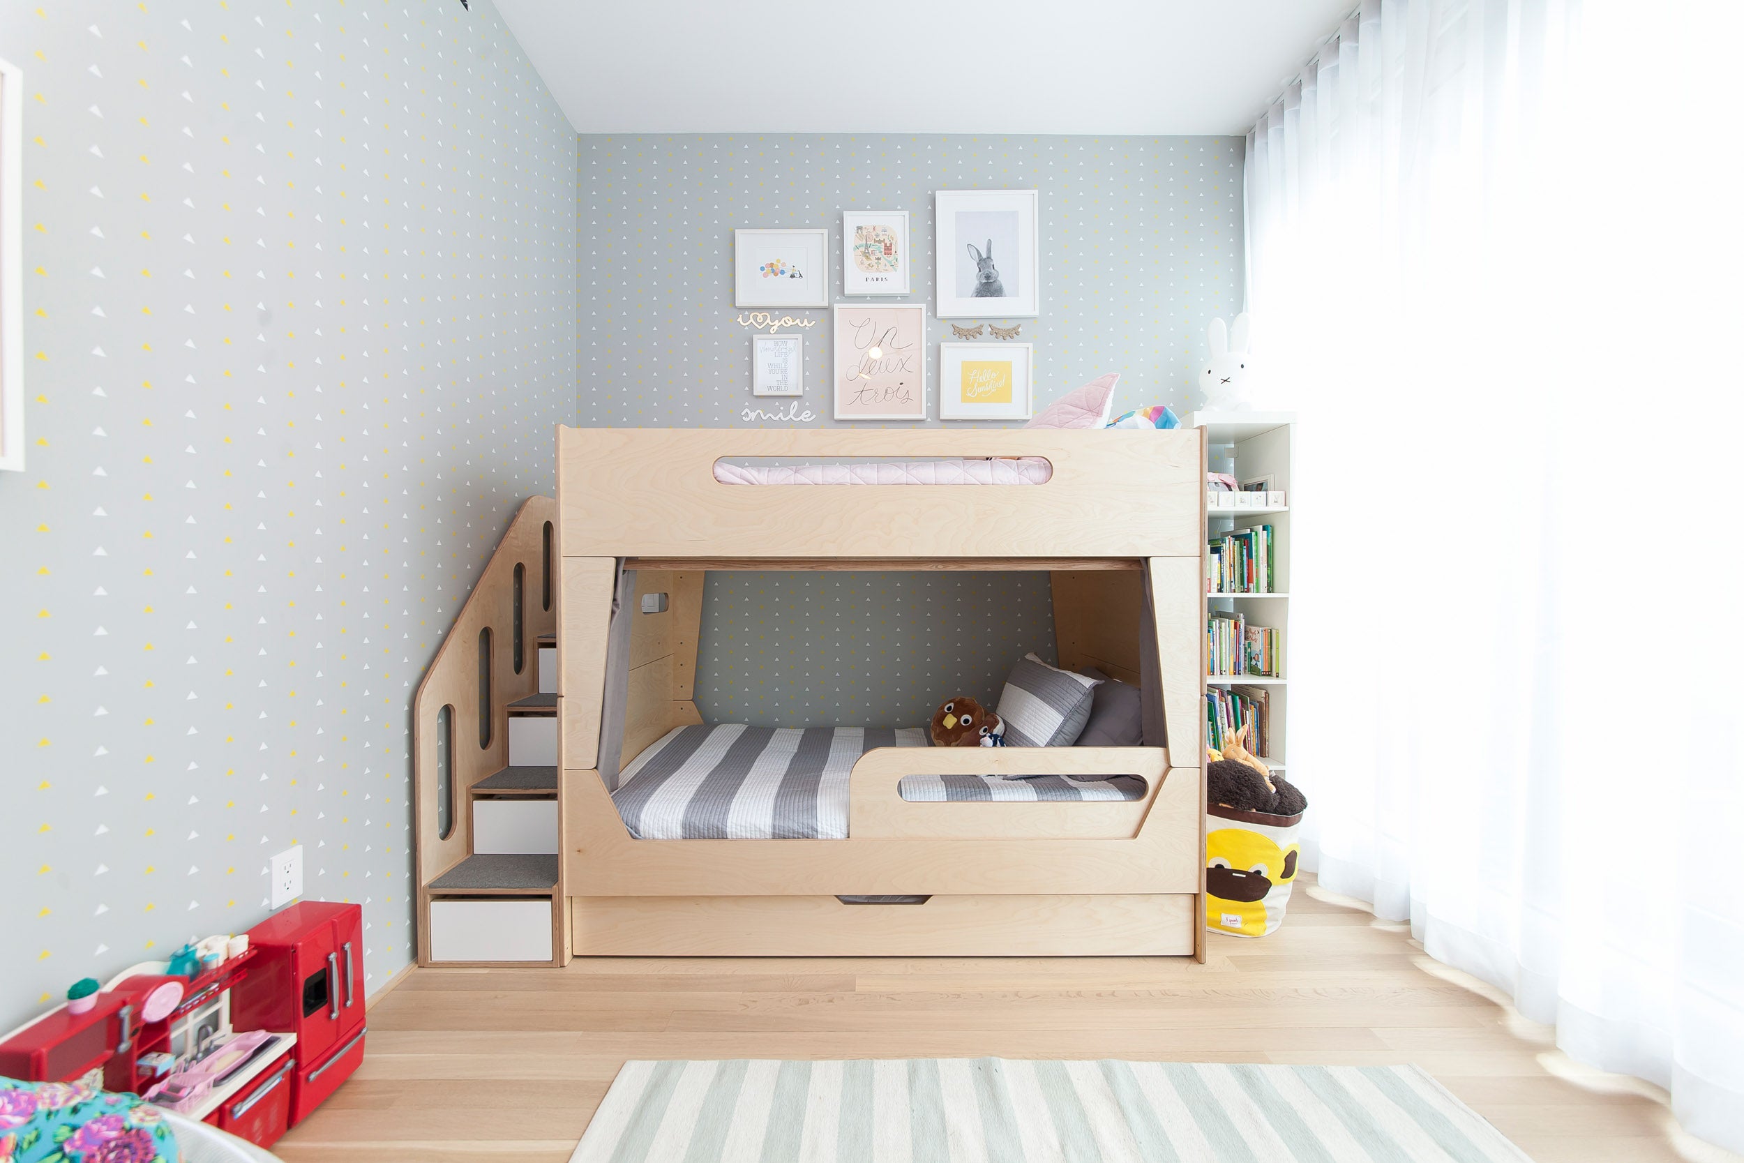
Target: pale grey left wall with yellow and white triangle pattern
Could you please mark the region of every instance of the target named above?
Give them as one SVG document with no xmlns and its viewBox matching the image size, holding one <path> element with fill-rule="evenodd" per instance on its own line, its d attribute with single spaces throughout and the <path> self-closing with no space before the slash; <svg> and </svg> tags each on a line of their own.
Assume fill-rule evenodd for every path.
<svg viewBox="0 0 1744 1163">
<path fill-rule="evenodd" d="M 490 3 L 0 5 L 0 1029 L 267 914 L 412 957 L 412 690 L 576 417 L 576 136 Z"/>
</svg>

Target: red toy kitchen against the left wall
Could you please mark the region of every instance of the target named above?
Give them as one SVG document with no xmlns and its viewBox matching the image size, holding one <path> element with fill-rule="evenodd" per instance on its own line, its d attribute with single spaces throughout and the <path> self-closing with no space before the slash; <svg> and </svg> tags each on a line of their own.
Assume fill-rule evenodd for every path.
<svg viewBox="0 0 1744 1163">
<path fill-rule="evenodd" d="M 363 910 L 300 901 L 0 1041 L 0 1076 L 96 1079 L 270 1147 L 363 1062 Z M 180 971 L 178 971 L 180 969 Z"/>
</svg>

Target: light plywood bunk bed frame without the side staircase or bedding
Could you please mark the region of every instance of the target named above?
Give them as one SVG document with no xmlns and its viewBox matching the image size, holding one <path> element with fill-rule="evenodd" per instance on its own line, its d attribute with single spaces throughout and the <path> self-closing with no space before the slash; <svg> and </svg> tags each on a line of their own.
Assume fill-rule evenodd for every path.
<svg viewBox="0 0 1744 1163">
<path fill-rule="evenodd" d="M 1052 476 L 726 485 L 713 469 L 727 457 L 1043 457 Z M 1198 431 L 558 429 L 556 893 L 567 915 L 556 922 L 567 940 L 556 961 L 1203 959 L 1203 504 Z M 635 839 L 609 781 L 671 729 L 701 724 L 692 684 L 706 570 L 1046 570 L 1060 666 L 1139 684 L 1167 746 L 875 748 L 851 771 L 848 839 Z M 664 598 L 642 612 L 644 595 Z M 1155 628 L 1149 640 L 1141 626 Z M 1146 790 L 1130 802 L 898 795 L 903 776 L 952 772 L 1123 774 Z M 888 903 L 855 903 L 867 898 Z"/>
</svg>

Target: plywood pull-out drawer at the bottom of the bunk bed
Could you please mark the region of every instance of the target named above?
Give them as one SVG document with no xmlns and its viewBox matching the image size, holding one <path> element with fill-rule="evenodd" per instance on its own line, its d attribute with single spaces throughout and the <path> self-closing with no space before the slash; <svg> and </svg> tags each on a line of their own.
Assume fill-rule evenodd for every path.
<svg viewBox="0 0 1744 1163">
<path fill-rule="evenodd" d="M 1193 956 L 1191 893 L 928 896 L 570 896 L 577 957 Z"/>
</svg>

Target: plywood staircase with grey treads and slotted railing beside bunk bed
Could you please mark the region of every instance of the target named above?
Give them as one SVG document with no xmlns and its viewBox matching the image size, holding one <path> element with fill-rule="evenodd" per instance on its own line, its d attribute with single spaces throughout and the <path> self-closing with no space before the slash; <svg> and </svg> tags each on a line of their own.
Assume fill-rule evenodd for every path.
<svg viewBox="0 0 1744 1163">
<path fill-rule="evenodd" d="M 521 504 L 419 684 L 419 964 L 569 961 L 555 523 Z"/>
</svg>

